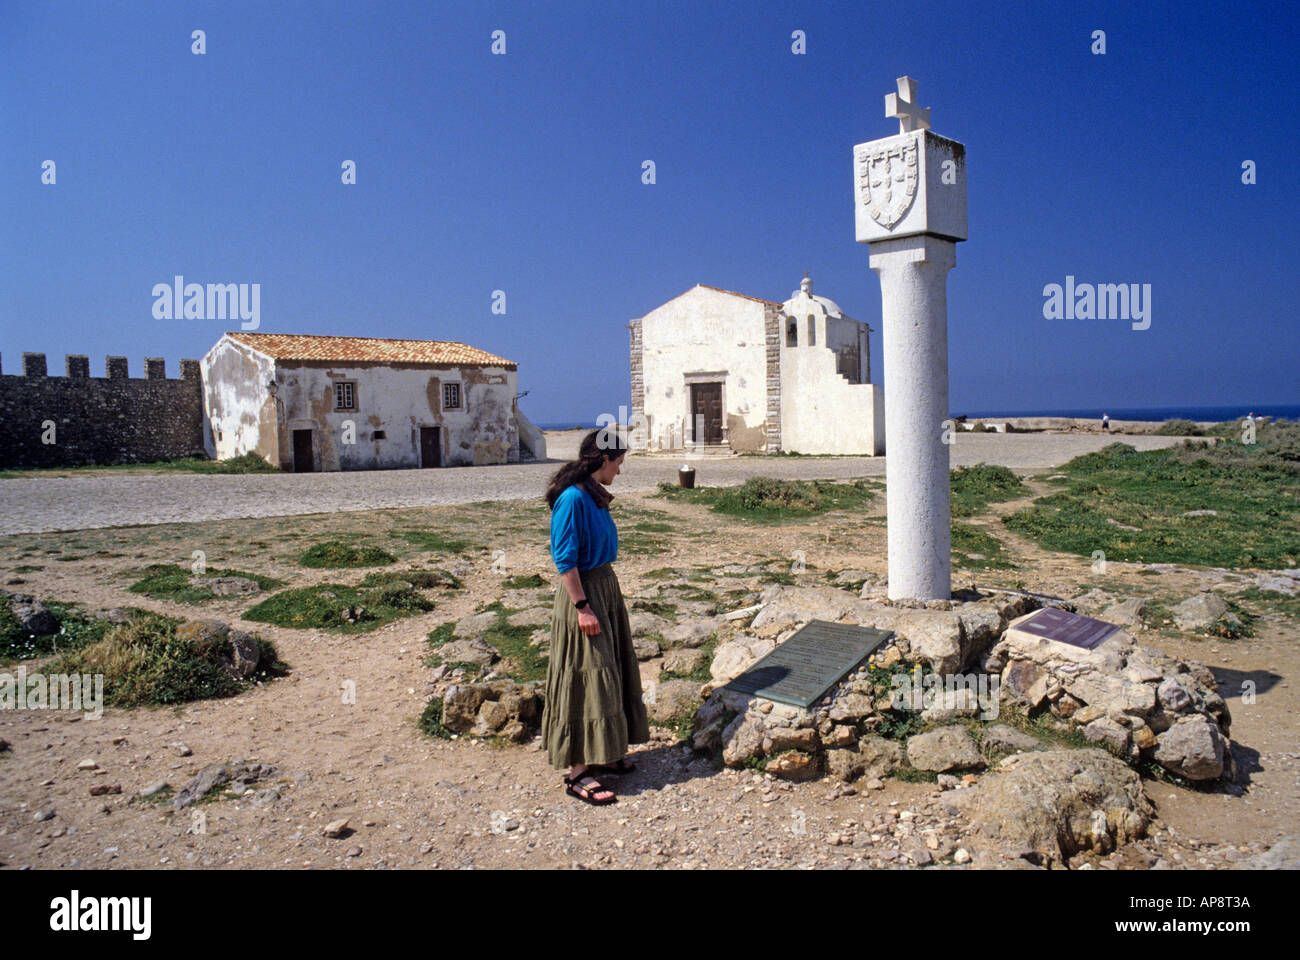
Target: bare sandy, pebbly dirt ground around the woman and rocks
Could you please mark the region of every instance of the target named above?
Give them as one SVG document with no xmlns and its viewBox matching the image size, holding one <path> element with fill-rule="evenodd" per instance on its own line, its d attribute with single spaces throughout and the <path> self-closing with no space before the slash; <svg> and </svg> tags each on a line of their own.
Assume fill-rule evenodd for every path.
<svg viewBox="0 0 1300 960">
<path fill-rule="evenodd" d="M 615 492 L 615 516 L 629 545 L 618 562 L 628 594 L 649 589 L 656 581 L 650 571 L 666 566 L 712 568 L 715 581 L 702 585 L 718 593 L 760 585 L 757 578 L 718 576 L 727 563 L 789 562 L 798 555 L 806 563 L 798 575 L 805 583 L 826 583 L 827 570 L 885 572 L 883 494 L 864 515 L 831 514 L 812 523 L 763 527 L 720 519 L 699 506 Z M 996 515 L 1013 506 L 976 519 L 1004 541 L 1019 568 L 966 571 L 954 584 L 962 576 L 997 585 L 1022 580 L 1030 589 L 1072 596 L 1104 580 L 1135 596 L 1178 597 L 1214 576 L 1196 571 L 1149 576 L 1110 565 L 1106 576 L 1097 578 L 1087 561 L 1039 550 L 1001 528 Z M 646 520 L 672 529 L 637 533 L 636 524 Z M 465 589 L 439 598 L 433 613 L 372 633 L 339 636 L 247 623 L 238 619 L 247 600 L 192 607 L 126 591 L 133 571 L 153 562 L 188 563 L 198 549 L 209 566 L 281 576 L 292 585 L 354 583 L 365 571 L 313 571 L 294 562 L 304 546 L 348 535 L 387 536 L 385 546 L 399 554 L 394 570 L 445 563 L 445 557 L 389 536 L 412 528 L 471 541 Z M 90 607 L 136 605 L 233 622 L 273 640 L 292 669 L 290 676 L 235 699 L 108 709 L 98 721 L 48 710 L 0 713 L 0 738 L 12 744 L 0 753 L 0 862 L 6 869 L 861 868 L 915 862 L 923 840 L 935 840 L 936 856 L 961 846 L 963 825 L 933 784 L 887 780 L 884 790 L 849 793 L 829 780 L 792 786 L 714 769 L 660 731 L 662 739 L 636 749 L 641 769 L 611 780 L 620 801 L 590 808 L 564 796 L 559 773 L 545 765 L 536 745 L 500 749 L 417 732 L 429 676 L 422 662 L 425 636 L 486 601 L 541 605 L 541 596 L 552 588 L 503 591 L 491 565 L 504 559 L 510 575 L 538 572 L 554 584 L 546 537 L 545 509 L 516 502 L 0 540 L 0 575 L 9 591 Z M 647 552 L 632 552 L 633 546 Z M 1139 632 L 1140 641 L 1201 660 L 1219 675 L 1247 779 L 1240 795 L 1148 783 L 1167 830 L 1112 857 L 1089 859 L 1096 866 L 1226 866 L 1296 831 L 1300 753 L 1294 718 L 1300 704 L 1288 682 L 1297 666 L 1295 639 L 1294 623 L 1274 619 L 1260 622 L 1258 637 L 1234 643 Z M 655 674 L 655 662 L 644 665 L 646 679 Z M 1240 702 L 1242 679 L 1257 684 L 1253 705 Z M 355 705 L 343 702 L 347 682 L 355 684 Z M 190 754 L 182 756 L 177 744 Z M 103 773 L 78 770 L 83 758 L 94 758 Z M 203 804 L 198 808 L 205 817 L 203 833 L 194 833 L 190 812 L 173 814 L 169 808 L 129 801 L 148 784 L 166 780 L 179 788 L 202 767 L 229 760 L 274 765 L 270 784 L 278 784 L 280 799 L 266 805 L 251 797 Z M 99 784 L 120 784 L 122 792 L 91 796 Z M 38 822 L 35 814 L 47 808 L 55 816 Z M 350 821 L 354 834 L 339 839 L 321 834 L 325 823 L 341 818 Z"/>
</svg>

